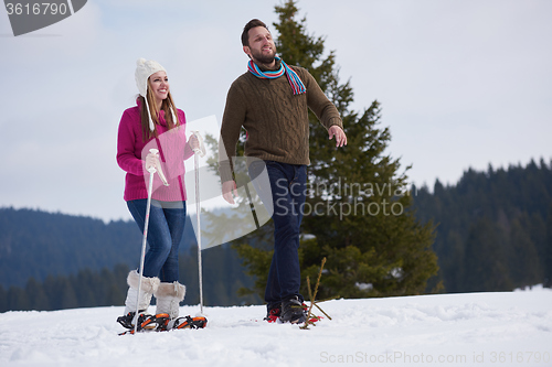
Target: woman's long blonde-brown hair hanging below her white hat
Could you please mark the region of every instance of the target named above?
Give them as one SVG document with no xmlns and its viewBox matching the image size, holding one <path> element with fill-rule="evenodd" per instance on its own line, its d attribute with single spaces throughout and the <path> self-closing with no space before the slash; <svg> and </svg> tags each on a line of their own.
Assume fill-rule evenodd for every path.
<svg viewBox="0 0 552 367">
<path fill-rule="evenodd" d="M 159 125 L 159 109 L 157 107 L 156 97 L 153 96 L 153 91 L 151 90 L 149 78 L 148 78 L 148 91 L 146 93 L 146 97 L 148 98 L 148 104 L 146 105 L 146 100 L 142 96 L 138 95 L 138 100 L 140 100 L 140 120 L 142 128 L 142 141 L 149 140 L 151 137 L 158 137 L 157 129 L 151 131 L 149 129 L 149 117 L 151 116 L 151 120 L 153 125 Z M 147 107 L 149 106 L 149 111 Z M 172 95 L 169 91 L 167 94 L 167 98 L 161 101 L 161 110 L 164 111 L 164 120 L 167 121 L 167 127 L 173 129 L 181 125 L 180 117 L 178 116 L 177 106 L 174 105 L 174 100 L 172 99 Z M 172 114 L 174 112 L 174 115 Z M 176 117 L 177 121 L 173 121 L 173 117 Z"/>
</svg>

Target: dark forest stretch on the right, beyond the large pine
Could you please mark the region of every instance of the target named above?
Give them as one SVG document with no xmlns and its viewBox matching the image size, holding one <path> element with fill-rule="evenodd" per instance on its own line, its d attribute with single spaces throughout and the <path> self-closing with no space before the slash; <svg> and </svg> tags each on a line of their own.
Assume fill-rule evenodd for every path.
<svg viewBox="0 0 552 367">
<path fill-rule="evenodd" d="M 447 292 L 552 285 L 552 163 L 470 169 L 455 185 L 413 192 L 417 217 L 437 225 Z"/>
</svg>

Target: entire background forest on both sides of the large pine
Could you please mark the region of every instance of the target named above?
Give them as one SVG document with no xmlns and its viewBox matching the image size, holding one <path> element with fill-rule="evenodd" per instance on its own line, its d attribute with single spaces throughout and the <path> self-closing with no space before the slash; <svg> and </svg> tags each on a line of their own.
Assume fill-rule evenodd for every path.
<svg viewBox="0 0 552 367">
<path fill-rule="evenodd" d="M 551 287 L 552 162 L 468 170 L 455 185 L 436 181 L 433 192 L 422 186 L 412 193 L 416 217 L 435 227 L 439 271 L 426 293 Z M 123 305 L 140 241 L 134 222 L 0 208 L 0 312 Z M 195 246 L 187 231 L 180 253 L 184 304 L 199 303 Z M 262 302 L 238 295 L 254 284 L 244 270 L 230 246 L 204 250 L 205 304 Z"/>
</svg>

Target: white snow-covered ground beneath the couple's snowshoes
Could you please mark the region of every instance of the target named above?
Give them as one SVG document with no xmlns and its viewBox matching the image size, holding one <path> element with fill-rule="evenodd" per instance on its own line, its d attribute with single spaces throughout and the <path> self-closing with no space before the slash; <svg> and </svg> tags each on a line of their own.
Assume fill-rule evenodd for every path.
<svg viewBox="0 0 552 367">
<path fill-rule="evenodd" d="M 310 330 L 262 322 L 255 305 L 205 307 L 204 330 L 125 336 L 119 306 L 7 312 L 0 366 L 552 366 L 548 289 L 321 306 L 332 320 Z"/>
</svg>

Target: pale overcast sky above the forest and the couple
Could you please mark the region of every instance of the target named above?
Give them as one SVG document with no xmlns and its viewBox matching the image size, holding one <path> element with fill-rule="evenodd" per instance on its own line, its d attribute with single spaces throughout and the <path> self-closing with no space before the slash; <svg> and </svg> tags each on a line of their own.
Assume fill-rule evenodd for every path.
<svg viewBox="0 0 552 367">
<path fill-rule="evenodd" d="M 193 121 L 222 118 L 246 71 L 252 18 L 277 35 L 269 1 L 89 0 L 14 37 L 0 10 L 0 206 L 129 219 L 117 127 L 134 106 L 136 60 L 168 71 Z M 389 152 L 411 182 L 454 184 L 468 168 L 552 159 L 552 1 L 300 0 L 326 36 L 353 109 L 378 99 Z"/>
</svg>

